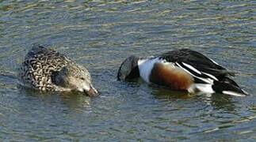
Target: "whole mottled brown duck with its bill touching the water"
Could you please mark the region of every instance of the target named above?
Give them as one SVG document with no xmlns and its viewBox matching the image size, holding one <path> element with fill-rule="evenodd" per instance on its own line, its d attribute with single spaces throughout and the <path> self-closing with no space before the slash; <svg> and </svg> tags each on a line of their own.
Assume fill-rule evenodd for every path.
<svg viewBox="0 0 256 142">
<path fill-rule="evenodd" d="M 34 45 L 18 73 L 18 83 L 42 92 L 82 92 L 90 97 L 99 93 L 88 70 L 56 50 Z"/>
</svg>

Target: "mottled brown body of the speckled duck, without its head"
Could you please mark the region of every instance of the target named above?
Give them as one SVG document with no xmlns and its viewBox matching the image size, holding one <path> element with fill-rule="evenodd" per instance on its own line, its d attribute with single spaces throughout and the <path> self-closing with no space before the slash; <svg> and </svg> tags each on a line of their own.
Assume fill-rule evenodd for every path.
<svg viewBox="0 0 256 142">
<path fill-rule="evenodd" d="M 71 60 L 55 50 L 42 46 L 33 46 L 25 56 L 19 73 L 19 81 L 32 88 L 48 88 L 52 86 L 52 73 L 58 72 L 64 66 L 71 64 Z"/>
</svg>

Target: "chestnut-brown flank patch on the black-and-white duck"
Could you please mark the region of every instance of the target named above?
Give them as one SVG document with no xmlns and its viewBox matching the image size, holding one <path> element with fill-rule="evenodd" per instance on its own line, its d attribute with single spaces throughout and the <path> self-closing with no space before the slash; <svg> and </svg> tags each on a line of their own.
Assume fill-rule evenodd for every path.
<svg viewBox="0 0 256 142">
<path fill-rule="evenodd" d="M 184 70 L 171 65 L 155 63 L 150 81 L 175 90 L 187 90 L 194 83 L 193 77 Z"/>
</svg>

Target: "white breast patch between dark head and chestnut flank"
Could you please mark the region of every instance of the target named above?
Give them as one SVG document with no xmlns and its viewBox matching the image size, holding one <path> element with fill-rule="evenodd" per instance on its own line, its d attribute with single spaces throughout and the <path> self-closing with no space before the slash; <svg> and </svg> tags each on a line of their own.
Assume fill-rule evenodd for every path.
<svg viewBox="0 0 256 142">
<path fill-rule="evenodd" d="M 155 63 L 162 62 L 165 63 L 164 60 L 159 58 L 152 58 L 147 60 L 139 60 L 139 75 L 143 78 L 147 83 L 150 83 L 149 77 L 151 75 L 151 70 L 153 69 Z"/>
</svg>

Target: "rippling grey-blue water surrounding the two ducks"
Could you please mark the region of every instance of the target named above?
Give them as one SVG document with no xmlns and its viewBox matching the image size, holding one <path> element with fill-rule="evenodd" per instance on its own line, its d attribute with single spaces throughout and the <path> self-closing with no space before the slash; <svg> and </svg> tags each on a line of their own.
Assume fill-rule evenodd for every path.
<svg viewBox="0 0 256 142">
<path fill-rule="evenodd" d="M 0 1 L 1 140 L 256 139 L 256 2 Z M 32 43 L 89 69 L 101 96 L 17 85 Z M 235 70 L 248 97 L 186 95 L 117 81 L 129 55 L 189 48 Z"/>
</svg>

